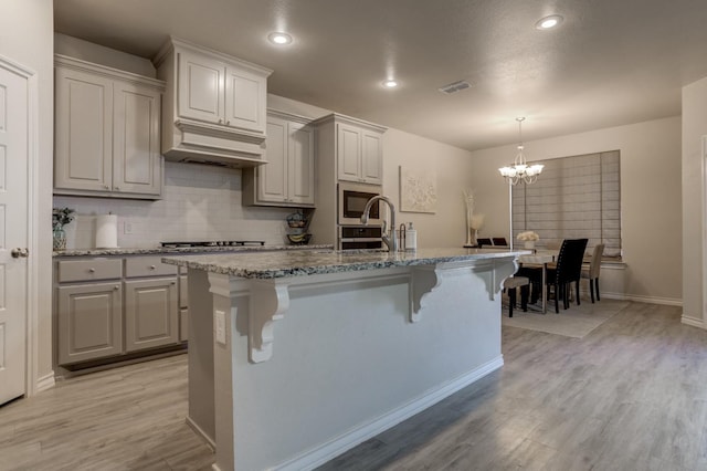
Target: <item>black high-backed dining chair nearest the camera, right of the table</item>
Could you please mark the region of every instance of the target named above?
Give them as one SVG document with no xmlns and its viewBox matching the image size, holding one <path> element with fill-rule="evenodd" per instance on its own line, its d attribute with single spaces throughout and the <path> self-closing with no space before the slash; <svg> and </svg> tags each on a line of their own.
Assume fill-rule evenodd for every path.
<svg viewBox="0 0 707 471">
<path fill-rule="evenodd" d="M 547 290 L 552 286 L 555 292 L 555 312 L 560 313 L 559 300 L 562 297 L 562 307 L 570 306 L 569 293 L 572 282 L 577 290 L 577 305 L 580 304 L 579 299 L 579 281 L 582 274 L 582 261 L 584 259 L 584 250 L 587 250 L 588 239 L 564 239 L 560 247 L 560 253 L 557 258 L 557 266 L 548 269 Z"/>
</svg>

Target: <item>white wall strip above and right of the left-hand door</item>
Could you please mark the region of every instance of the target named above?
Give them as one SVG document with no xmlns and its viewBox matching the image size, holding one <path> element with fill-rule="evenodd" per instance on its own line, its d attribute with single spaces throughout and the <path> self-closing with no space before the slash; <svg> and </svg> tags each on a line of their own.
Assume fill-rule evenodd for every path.
<svg viewBox="0 0 707 471">
<path fill-rule="evenodd" d="M 52 376 L 52 167 L 54 140 L 54 13 L 52 0 L 0 0 L 0 54 L 36 73 L 39 82 L 39 339 L 35 383 Z"/>
</svg>

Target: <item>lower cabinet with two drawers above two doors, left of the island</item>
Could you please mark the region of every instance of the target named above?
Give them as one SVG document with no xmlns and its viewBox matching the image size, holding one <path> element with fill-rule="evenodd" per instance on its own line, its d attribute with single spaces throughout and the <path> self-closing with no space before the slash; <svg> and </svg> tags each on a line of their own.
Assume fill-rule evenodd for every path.
<svg viewBox="0 0 707 471">
<path fill-rule="evenodd" d="M 177 266 L 161 255 L 55 262 L 57 364 L 75 365 L 178 346 L 187 312 Z M 186 276 L 184 276 L 186 279 Z M 82 367 L 77 365 L 75 367 Z"/>
</svg>

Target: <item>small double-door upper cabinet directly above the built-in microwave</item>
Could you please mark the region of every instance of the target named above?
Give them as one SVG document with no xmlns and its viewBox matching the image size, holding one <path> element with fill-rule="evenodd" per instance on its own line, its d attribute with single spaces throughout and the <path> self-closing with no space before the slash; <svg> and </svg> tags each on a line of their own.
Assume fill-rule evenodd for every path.
<svg viewBox="0 0 707 471">
<path fill-rule="evenodd" d="M 338 180 L 382 185 L 386 128 L 333 114 L 316 122 L 320 147 L 336 155 Z M 325 158 L 321 156 L 320 158 Z"/>
</svg>

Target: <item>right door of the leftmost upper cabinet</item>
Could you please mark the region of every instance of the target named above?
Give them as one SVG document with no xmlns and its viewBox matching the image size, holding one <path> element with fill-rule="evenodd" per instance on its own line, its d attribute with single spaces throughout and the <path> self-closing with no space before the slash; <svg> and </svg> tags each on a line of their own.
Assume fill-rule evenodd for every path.
<svg viewBox="0 0 707 471">
<path fill-rule="evenodd" d="M 123 82 L 114 85 L 113 191 L 160 195 L 161 94 Z"/>
</svg>

